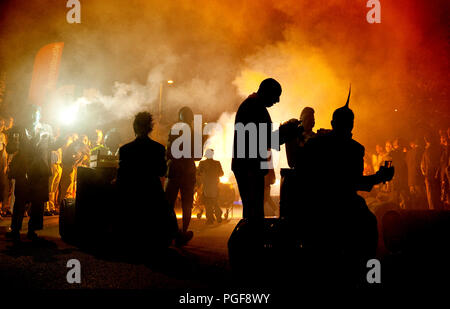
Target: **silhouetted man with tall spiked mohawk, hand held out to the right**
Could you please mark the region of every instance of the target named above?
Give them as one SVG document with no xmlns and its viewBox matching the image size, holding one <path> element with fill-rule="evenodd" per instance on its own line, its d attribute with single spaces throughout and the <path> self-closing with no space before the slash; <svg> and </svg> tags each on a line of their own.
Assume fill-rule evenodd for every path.
<svg viewBox="0 0 450 309">
<path fill-rule="evenodd" d="M 346 266 L 336 275 L 355 283 L 365 280 L 360 271 L 375 257 L 378 243 L 376 217 L 357 191 L 370 191 L 375 184 L 391 180 L 394 169 L 381 167 L 376 174 L 363 176 L 364 147 L 352 138 L 350 92 L 351 88 L 345 106 L 333 113 L 332 130 L 308 140 L 305 159 L 298 162 L 306 175 L 301 184 L 306 203 L 299 220 L 304 248 L 325 271 L 322 274 L 330 276 L 330 269 L 322 268 L 330 260 L 342 262 Z"/>
</svg>

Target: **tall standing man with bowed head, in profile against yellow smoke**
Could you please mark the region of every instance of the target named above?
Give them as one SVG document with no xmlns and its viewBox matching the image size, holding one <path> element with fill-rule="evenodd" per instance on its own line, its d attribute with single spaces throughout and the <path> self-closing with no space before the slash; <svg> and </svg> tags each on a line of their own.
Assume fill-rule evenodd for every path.
<svg viewBox="0 0 450 309">
<path fill-rule="evenodd" d="M 243 217 L 249 220 L 264 218 L 264 176 L 268 172 L 269 151 L 283 144 L 289 127 L 280 126 L 280 139 L 273 140 L 272 119 L 268 107 L 280 101 L 281 85 L 273 78 L 261 82 L 256 93 L 251 94 L 236 113 L 233 160 L 231 169 L 236 176 L 243 205 Z"/>
</svg>

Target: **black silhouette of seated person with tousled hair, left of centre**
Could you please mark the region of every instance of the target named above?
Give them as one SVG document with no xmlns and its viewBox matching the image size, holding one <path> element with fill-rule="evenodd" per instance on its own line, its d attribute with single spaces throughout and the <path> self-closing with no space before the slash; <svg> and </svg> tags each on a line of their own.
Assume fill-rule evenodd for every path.
<svg viewBox="0 0 450 309">
<path fill-rule="evenodd" d="M 145 246 L 144 251 L 168 247 L 176 237 L 176 216 L 166 201 L 160 177 L 166 173 L 165 148 L 149 137 L 152 115 L 140 112 L 133 129 L 136 139 L 119 148 L 117 186 L 120 203 L 128 209 L 121 218 L 127 245 Z M 141 250 L 139 250 L 141 251 Z"/>
</svg>

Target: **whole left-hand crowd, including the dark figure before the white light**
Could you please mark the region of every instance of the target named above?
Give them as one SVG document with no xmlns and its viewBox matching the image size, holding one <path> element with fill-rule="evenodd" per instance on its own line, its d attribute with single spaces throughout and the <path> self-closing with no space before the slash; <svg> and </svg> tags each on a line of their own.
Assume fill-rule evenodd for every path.
<svg viewBox="0 0 450 309">
<path fill-rule="evenodd" d="M 92 153 L 114 155 L 120 143 L 115 130 L 105 137 L 96 130 L 92 142 L 85 134 L 53 131 L 40 116 L 38 106 L 27 105 L 16 121 L 0 120 L 0 216 L 11 217 L 7 237 L 15 241 L 25 216 L 30 218 L 27 237 L 38 239 L 43 216 L 58 214 L 62 200 L 75 198 L 77 168 L 88 167 Z"/>
</svg>

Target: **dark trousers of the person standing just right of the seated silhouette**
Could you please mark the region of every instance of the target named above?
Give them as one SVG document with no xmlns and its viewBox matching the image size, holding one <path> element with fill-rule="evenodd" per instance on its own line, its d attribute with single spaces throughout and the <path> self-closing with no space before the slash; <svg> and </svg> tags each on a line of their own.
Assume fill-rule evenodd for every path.
<svg viewBox="0 0 450 309">
<path fill-rule="evenodd" d="M 186 232 L 191 222 L 192 205 L 194 202 L 195 182 L 180 178 L 168 178 L 166 180 L 166 198 L 170 207 L 175 207 L 178 191 L 181 194 L 181 209 L 183 211 L 183 232 Z"/>
</svg>

